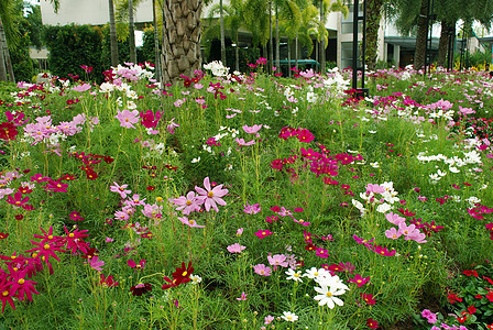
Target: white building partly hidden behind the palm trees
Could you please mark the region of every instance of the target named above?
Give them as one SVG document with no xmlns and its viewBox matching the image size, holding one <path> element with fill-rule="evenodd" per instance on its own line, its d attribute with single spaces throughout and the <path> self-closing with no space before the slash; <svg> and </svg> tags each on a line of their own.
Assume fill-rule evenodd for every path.
<svg viewBox="0 0 493 330">
<path fill-rule="evenodd" d="M 224 4 L 228 0 L 223 0 Z M 213 0 L 211 4 L 202 8 L 202 18 L 209 16 L 210 8 L 217 6 L 219 0 Z M 64 0 L 61 1 L 61 8 L 57 13 L 54 12 L 53 6 L 48 0 L 41 0 L 42 20 L 44 24 L 91 24 L 102 25 L 108 23 L 109 8 L 108 0 Z M 352 65 L 352 6 L 349 6 L 350 13 L 344 18 L 339 12 L 331 12 L 328 15 L 326 29 L 329 35 L 329 43 L 326 50 L 326 62 L 337 64 L 338 67 L 348 67 Z M 361 12 L 361 11 L 360 11 Z M 136 8 L 135 14 L 136 29 L 142 29 L 145 23 L 151 23 L 152 18 L 152 0 L 142 0 Z M 216 18 L 218 19 L 218 18 Z M 207 22 L 205 22 L 207 24 Z M 437 53 L 439 25 L 434 26 L 434 38 L 431 52 Z M 228 37 L 228 35 L 227 35 Z M 249 46 L 251 37 L 248 31 L 240 30 L 239 37 L 240 46 Z M 361 36 L 359 37 L 361 40 Z M 229 40 L 229 44 L 231 41 Z M 281 52 L 281 58 L 287 59 L 287 42 L 286 38 L 281 38 L 281 44 L 284 48 Z M 379 54 L 377 61 L 396 66 L 405 66 L 413 64 L 413 56 L 416 41 L 414 37 L 401 35 L 395 28 L 384 19 L 381 21 L 379 29 Z M 293 45 L 292 45 L 293 47 Z M 319 62 L 319 56 L 316 50 L 318 44 L 315 41 L 314 52 L 307 54 L 306 50 L 299 46 L 299 58 L 311 58 Z M 292 48 L 292 54 L 295 52 Z M 213 58 L 212 58 L 213 59 Z"/>
</svg>

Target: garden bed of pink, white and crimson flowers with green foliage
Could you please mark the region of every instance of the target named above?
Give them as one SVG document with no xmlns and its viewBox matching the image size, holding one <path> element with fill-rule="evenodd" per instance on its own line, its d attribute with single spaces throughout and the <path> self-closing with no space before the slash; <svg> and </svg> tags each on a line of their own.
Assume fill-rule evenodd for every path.
<svg viewBox="0 0 493 330">
<path fill-rule="evenodd" d="M 493 329 L 493 80 L 125 63 L 0 89 L 1 329 Z"/>
</svg>

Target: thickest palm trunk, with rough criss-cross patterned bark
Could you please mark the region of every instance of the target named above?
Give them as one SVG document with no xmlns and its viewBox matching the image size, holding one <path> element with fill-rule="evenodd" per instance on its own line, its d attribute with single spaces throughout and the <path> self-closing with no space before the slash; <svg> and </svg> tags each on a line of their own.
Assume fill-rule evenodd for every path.
<svg viewBox="0 0 493 330">
<path fill-rule="evenodd" d="M 176 82 L 200 69 L 201 0 L 166 0 L 163 3 L 164 81 Z"/>
</svg>

